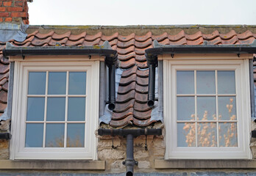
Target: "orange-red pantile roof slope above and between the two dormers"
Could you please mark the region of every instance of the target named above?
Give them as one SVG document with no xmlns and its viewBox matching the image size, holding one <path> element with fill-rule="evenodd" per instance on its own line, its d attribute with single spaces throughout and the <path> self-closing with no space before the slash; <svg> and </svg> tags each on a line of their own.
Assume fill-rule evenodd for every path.
<svg viewBox="0 0 256 176">
<path fill-rule="evenodd" d="M 202 45 L 207 40 L 208 45 L 232 45 L 249 44 L 255 40 L 256 34 L 247 30 L 237 33 L 231 30 L 221 34 L 218 30 L 210 34 L 202 34 L 198 31 L 194 34 L 186 34 L 184 30 L 178 34 L 163 32 L 154 35 L 147 32 L 144 35 L 131 33 L 123 36 L 118 32 L 104 35 L 102 32 L 87 34 L 79 32 L 72 34 L 71 31 L 57 34 L 54 30 L 47 34 L 38 31 L 28 34 L 24 42 L 10 41 L 13 45 L 20 46 L 53 46 L 57 42 L 61 45 L 102 45 L 105 40 L 110 42 L 112 48 L 118 51 L 118 59 L 121 69 L 124 69 L 118 87 L 115 110 L 113 111 L 110 126 L 123 127 L 125 125 L 146 126 L 155 122 L 151 119 L 152 108 L 147 106 L 148 76 L 149 70 L 144 56 L 147 48 L 152 48 L 153 40 L 164 45 Z M 7 106 L 7 87 L 9 76 L 9 61 L 1 54 L 5 43 L 0 43 L 0 112 Z"/>
</svg>

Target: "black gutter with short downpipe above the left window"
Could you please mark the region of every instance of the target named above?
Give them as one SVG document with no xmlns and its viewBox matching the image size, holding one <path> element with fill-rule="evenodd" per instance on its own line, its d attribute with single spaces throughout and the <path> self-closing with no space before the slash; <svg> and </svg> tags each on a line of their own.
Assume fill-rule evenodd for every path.
<svg viewBox="0 0 256 176">
<path fill-rule="evenodd" d="M 60 45 L 57 43 L 57 45 Z M 105 63 L 109 67 L 109 103 L 110 110 L 115 109 L 115 65 L 118 65 L 118 52 L 113 50 L 110 43 L 94 46 L 46 46 L 46 47 L 16 47 L 7 43 L 3 49 L 7 56 L 35 56 L 35 55 L 99 55 L 105 56 Z"/>
</svg>

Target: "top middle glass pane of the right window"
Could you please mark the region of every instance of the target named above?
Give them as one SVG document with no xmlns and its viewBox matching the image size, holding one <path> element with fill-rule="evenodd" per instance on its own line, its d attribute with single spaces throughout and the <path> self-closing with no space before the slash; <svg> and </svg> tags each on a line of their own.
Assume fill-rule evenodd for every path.
<svg viewBox="0 0 256 176">
<path fill-rule="evenodd" d="M 196 92 L 199 94 L 215 93 L 215 71 L 196 71 Z"/>
</svg>

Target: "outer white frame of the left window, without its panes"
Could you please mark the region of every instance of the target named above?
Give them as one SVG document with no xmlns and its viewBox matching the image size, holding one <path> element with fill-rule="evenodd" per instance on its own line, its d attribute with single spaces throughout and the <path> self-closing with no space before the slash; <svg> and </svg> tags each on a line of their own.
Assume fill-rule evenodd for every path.
<svg viewBox="0 0 256 176">
<path fill-rule="evenodd" d="M 37 58 L 15 60 L 13 81 L 12 131 L 10 159 L 96 160 L 99 125 L 99 59 Z M 38 62 L 39 60 L 39 62 Z M 69 62 L 68 62 L 69 60 Z M 71 62 L 72 61 L 72 62 Z M 86 71 L 85 147 L 24 147 L 26 128 L 26 92 L 29 71 Z"/>
</svg>

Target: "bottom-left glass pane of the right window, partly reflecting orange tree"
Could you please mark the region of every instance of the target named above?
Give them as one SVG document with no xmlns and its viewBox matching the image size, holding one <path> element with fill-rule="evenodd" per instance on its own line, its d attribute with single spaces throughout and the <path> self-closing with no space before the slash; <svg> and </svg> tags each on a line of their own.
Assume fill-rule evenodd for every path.
<svg viewBox="0 0 256 176">
<path fill-rule="evenodd" d="M 178 147 L 196 147 L 195 123 L 177 123 Z"/>
</svg>

